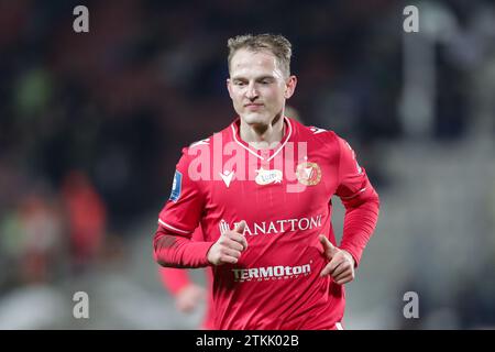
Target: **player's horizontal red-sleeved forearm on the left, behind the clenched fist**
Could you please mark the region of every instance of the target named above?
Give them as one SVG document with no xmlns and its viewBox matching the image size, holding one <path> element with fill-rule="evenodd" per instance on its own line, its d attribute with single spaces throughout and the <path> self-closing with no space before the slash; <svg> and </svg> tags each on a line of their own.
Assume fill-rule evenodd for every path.
<svg viewBox="0 0 495 352">
<path fill-rule="evenodd" d="M 155 261 L 162 266 L 179 268 L 210 265 L 207 254 L 213 242 L 191 241 L 163 227 L 158 227 L 153 240 Z"/>
</svg>

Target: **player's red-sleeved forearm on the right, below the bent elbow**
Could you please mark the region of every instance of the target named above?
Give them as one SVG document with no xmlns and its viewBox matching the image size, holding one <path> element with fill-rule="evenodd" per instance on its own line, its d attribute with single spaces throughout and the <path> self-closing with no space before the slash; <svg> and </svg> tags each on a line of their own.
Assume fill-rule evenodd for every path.
<svg viewBox="0 0 495 352">
<path fill-rule="evenodd" d="M 348 251 L 358 266 L 378 221 L 380 199 L 373 191 L 364 199 L 344 201 L 344 207 L 343 234 L 339 248 Z"/>
</svg>

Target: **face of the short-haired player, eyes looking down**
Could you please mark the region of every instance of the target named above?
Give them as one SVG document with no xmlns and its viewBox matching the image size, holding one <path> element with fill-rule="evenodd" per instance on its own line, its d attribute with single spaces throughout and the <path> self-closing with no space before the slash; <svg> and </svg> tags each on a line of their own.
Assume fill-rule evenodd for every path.
<svg viewBox="0 0 495 352">
<path fill-rule="evenodd" d="M 296 77 L 285 77 L 268 51 L 239 50 L 230 63 L 227 87 L 235 112 L 245 123 L 268 125 L 293 95 Z"/>
</svg>

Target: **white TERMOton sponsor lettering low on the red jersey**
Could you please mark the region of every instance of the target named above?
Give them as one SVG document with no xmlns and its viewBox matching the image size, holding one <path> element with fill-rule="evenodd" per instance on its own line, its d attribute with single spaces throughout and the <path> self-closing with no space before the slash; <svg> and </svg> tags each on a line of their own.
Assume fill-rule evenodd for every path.
<svg viewBox="0 0 495 352">
<path fill-rule="evenodd" d="M 300 276 L 308 276 L 311 274 L 311 265 L 296 265 L 296 266 L 262 266 L 252 268 L 232 268 L 234 282 L 243 283 L 253 279 L 257 282 L 270 279 L 288 279 L 298 278 Z"/>
</svg>

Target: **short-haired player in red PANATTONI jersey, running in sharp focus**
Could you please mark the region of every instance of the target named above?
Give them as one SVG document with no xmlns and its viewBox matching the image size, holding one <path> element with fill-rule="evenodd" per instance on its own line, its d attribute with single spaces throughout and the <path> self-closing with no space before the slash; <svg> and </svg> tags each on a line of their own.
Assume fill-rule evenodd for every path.
<svg viewBox="0 0 495 352">
<path fill-rule="evenodd" d="M 289 119 L 296 88 L 282 35 L 228 41 L 238 118 L 183 150 L 158 216 L 155 260 L 213 270 L 215 329 L 340 329 L 380 200 L 351 146 Z M 337 245 L 331 197 L 345 207 Z M 205 241 L 191 241 L 200 226 Z"/>
</svg>

